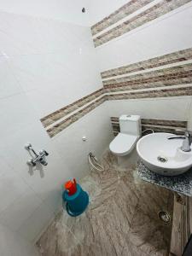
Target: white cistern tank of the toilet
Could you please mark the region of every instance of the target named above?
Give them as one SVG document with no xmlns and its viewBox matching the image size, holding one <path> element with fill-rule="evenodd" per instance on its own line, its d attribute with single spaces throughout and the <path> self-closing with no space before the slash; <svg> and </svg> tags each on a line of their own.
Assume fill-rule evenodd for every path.
<svg viewBox="0 0 192 256">
<path fill-rule="evenodd" d="M 141 136 L 141 118 L 139 115 L 122 114 L 119 117 L 120 132 Z"/>
</svg>

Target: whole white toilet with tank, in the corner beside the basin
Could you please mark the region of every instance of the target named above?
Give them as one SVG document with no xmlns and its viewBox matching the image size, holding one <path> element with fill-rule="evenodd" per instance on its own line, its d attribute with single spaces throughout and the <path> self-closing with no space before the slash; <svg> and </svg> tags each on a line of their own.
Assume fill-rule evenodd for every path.
<svg viewBox="0 0 192 256">
<path fill-rule="evenodd" d="M 109 144 L 110 151 L 118 157 L 121 167 L 134 167 L 137 164 L 137 140 L 141 136 L 139 115 L 122 114 L 119 117 L 120 132 Z"/>
</svg>

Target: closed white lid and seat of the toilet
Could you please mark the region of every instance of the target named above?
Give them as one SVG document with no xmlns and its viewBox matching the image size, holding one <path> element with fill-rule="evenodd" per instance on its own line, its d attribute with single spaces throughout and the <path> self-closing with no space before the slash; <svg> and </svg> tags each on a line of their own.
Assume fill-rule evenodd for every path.
<svg viewBox="0 0 192 256">
<path fill-rule="evenodd" d="M 118 134 L 117 137 L 109 144 L 109 148 L 113 154 L 126 155 L 131 152 L 137 143 L 138 136 L 125 133 Z"/>
</svg>

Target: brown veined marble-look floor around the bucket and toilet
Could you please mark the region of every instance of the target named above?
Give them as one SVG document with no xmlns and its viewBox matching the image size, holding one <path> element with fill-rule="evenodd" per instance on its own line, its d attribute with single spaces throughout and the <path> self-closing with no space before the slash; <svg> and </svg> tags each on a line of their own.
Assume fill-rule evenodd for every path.
<svg viewBox="0 0 192 256">
<path fill-rule="evenodd" d="M 90 195 L 86 212 L 73 218 L 61 211 L 37 242 L 43 256 L 166 256 L 172 223 L 173 195 L 137 177 L 136 168 L 119 169 L 108 151 L 104 172 L 91 171 L 81 180 Z"/>
</svg>

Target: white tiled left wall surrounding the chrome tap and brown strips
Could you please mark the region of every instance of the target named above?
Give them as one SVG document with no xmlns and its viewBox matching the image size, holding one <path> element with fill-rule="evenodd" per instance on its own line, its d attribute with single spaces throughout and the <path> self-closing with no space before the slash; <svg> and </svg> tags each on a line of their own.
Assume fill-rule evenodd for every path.
<svg viewBox="0 0 192 256">
<path fill-rule="evenodd" d="M 87 154 L 112 137 L 106 104 L 53 138 L 40 121 L 102 88 L 90 28 L 1 11 L 0 66 L 0 223 L 34 241 L 61 208 L 62 183 L 87 174 Z M 28 142 L 48 166 L 26 165 Z"/>
</svg>

